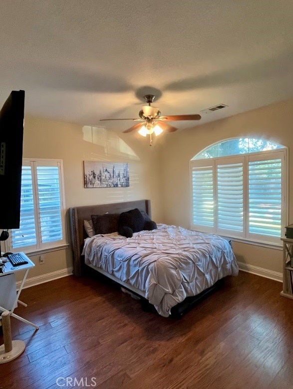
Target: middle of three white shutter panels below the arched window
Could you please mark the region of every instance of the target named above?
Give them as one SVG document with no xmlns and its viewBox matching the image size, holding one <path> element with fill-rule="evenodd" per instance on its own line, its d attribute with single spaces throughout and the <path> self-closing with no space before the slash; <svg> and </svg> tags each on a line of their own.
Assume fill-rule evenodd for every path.
<svg viewBox="0 0 293 389">
<path fill-rule="evenodd" d="M 243 157 L 230 158 L 217 165 L 217 233 L 244 235 Z"/>
</svg>

